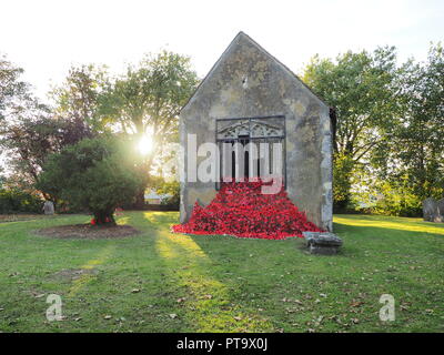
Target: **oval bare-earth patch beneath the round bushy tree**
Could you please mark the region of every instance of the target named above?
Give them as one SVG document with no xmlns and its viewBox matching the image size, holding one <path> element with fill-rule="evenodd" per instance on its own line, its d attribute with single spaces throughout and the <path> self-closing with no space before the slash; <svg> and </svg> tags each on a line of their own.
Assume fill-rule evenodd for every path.
<svg viewBox="0 0 444 355">
<path fill-rule="evenodd" d="M 131 225 L 98 226 L 91 224 L 71 224 L 39 230 L 38 235 L 57 239 L 100 240 L 132 236 L 140 233 Z"/>
</svg>

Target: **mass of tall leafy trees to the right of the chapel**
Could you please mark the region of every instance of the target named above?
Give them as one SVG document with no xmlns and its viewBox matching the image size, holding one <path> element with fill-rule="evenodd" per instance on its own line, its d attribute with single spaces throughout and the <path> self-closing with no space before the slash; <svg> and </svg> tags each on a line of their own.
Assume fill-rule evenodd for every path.
<svg viewBox="0 0 444 355">
<path fill-rule="evenodd" d="M 425 63 L 398 65 L 395 49 L 385 47 L 349 51 L 335 61 L 316 55 L 306 65 L 304 80 L 337 114 L 336 207 L 351 205 L 353 190 L 384 196 L 382 210 L 398 213 L 394 204 L 403 203 L 411 213 L 425 197 L 443 194 L 443 63 L 436 44 Z"/>
</svg>

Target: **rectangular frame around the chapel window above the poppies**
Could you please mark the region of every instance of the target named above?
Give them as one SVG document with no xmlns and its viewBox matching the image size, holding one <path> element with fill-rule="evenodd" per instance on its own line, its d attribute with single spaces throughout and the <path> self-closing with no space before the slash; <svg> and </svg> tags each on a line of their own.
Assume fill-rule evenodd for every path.
<svg viewBox="0 0 444 355">
<path fill-rule="evenodd" d="M 286 190 L 286 118 L 284 114 L 269 114 L 269 115 L 260 115 L 260 116 L 244 116 L 244 118 L 219 118 L 215 119 L 215 130 L 214 130 L 214 140 L 215 143 L 219 145 L 220 142 L 226 142 L 226 141 L 240 141 L 241 139 L 239 138 L 225 138 L 225 139 L 219 139 L 218 133 L 219 133 L 219 122 L 223 121 L 249 121 L 249 125 L 251 128 L 251 121 L 253 120 L 268 120 L 268 119 L 281 119 L 283 121 L 282 128 L 283 128 L 283 133 L 280 135 L 274 135 L 274 136 L 251 136 L 251 129 L 249 130 L 249 140 L 263 140 L 263 139 L 281 139 L 283 142 L 283 149 L 282 149 L 282 158 L 283 158 L 283 178 L 284 178 L 284 190 Z M 221 171 L 221 156 L 218 156 L 218 170 Z M 221 179 L 221 176 L 219 176 Z M 215 182 L 215 190 L 220 190 L 221 182 Z"/>
</svg>

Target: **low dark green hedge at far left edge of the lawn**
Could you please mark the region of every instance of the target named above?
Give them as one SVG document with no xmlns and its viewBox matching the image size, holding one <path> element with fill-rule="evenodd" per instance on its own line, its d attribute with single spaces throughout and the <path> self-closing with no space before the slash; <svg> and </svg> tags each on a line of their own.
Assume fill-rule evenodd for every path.
<svg viewBox="0 0 444 355">
<path fill-rule="evenodd" d="M 0 214 L 8 213 L 41 213 L 43 201 L 28 192 L 0 187 Z"/>
</svg>

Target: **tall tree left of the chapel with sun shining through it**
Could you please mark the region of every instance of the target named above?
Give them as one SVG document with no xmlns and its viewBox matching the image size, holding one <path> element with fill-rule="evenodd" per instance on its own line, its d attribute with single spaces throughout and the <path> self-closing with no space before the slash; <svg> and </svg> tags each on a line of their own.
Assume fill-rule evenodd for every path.
<svg viewBox="0 0 444 355">
<path fill-rule="evenodd" d="M 100 116 L 105 124 L 120 128 L 137 141 L 152 142 L 149 154 L 141 154 L 138 166 L 145 179 L 139 189 L 138 204 L 144 203 L 153 160 L 162 148 L 178 140 L 179 112 L 198 84 L 190 59 L 162 51 L 147 57 L 138 67 L 115 80 L 101 97 Z"/>
</svg>

